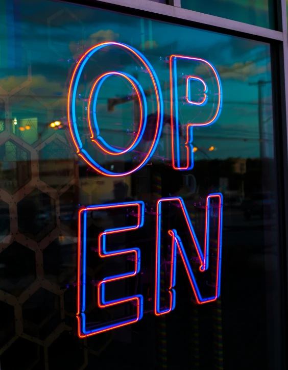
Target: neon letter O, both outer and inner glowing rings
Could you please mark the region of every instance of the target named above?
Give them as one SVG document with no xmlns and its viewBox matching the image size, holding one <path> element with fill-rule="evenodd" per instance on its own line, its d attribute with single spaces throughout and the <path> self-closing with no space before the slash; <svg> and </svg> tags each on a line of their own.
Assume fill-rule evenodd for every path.
<svg viewBox="0 0 288 370">
<path fill-rule="evenodd" d="M 77 87 L 78 87 L 79 79 L 80 79 L 80 76 L 81 76 L 81 73 L 82 73 L 82 70 L 83 70 L 85 64 L 87 63 L 89 58 L 94 53 L 96 53 L 98 50 L 100 50 L 103 47 L 111 46 L 111 45 L 115 45 L 115 46 L 119 46 L 119 47 L 124 48 L 125 50 L 127 50 L 128 52 L 130 52 L 134 56 L 136 56 L 140 60 L 140 62 L 145 66 L 145 68 L 147 69 L 147 71 L 150 75 L 150 78 L 152 80 L 154 90 L 155 90 L 155 95 L 156 95 L 156 101 L 157 101 L 156 127 L 155 127 L 154 137 L 153 137 L 152 143 L 149 147 L 149 150 L 146 153 L 145 157 L 141 160 L 141 162 L 139 164 L 137 164 L 137 166 L 135 166 L 135 168 L 131 169 L 130 171 L 123 172 L 123 173 L 112 172 L 112 171 L 109 171 L 106 168 L 102 167 L 99 163 L 95 162 L 95 160 L 90 156 L 90 154 L 83 148 L 83 144 L 82 144 L 79 132 L 78 132 L 77 119 L 76 119 L 76 110 L 75 110 L 75 108 L 76 108 Z M 106 78 L 106 77 L 108 77 L 112 74 L 120 75 L 120 76 L 128 79 L 129 82 L 132 84 L 132 86 L 136 87 L 136 93 L 138 95 L 138 98 L 140 99 L 140 95 L 142 95 L 144 97 L 143 98 L 143 103 L 144 103 L 143 110 L 144 110 L 144 112 L 143 112 L 142 116 L 140 114 L 140 118 L 142 117 L 142 119 L 141 119 L 141 122 L 140 122 L 139 130 L 138 130 L 138 133 L 136 135 L 136 138 L 134 139 L 132 144 L 130 144 L 128 149 L 126 149 L 124 151 L 121 151 L 121 152 L 115 150 L 113 147 L 108 145 L 99 136 L 100 133 L 99 133 L 99 129 L 97 131 L 97 121 L 95 121 L 95 115 L 94 115 L 94 126 L 95 126 L 95 129 L 96 129 L 96 132 L 97 132 L 97 136 L 99 136 L 100 140 L 101 139 L 102 140 L 101 140 L 101 143 L 100 143 L 99 140 L 94 140 L 93 139 L 94 135 L 93 135 L 92 127 L 91 127 L 90 114 L 89 114 L 89 109 L 90 109 L 90 103 L 91 103 L 93 90 L 95 89 L 96 90 L 95 92 L 97 92 L 97 84 L 98 84 L 98 88 L 100 88 L 102 82 L 104 81 L 103 78 Z M 105 77 L 104 77 L 104 75 L 105 75 Z M 127 73 L 111 71 L 111 72 L 105 73 L 104 75 L 101 76 L 102 79 L 101 79 L 101 77 L 99 79 L 97 79 L 97 81 L 94 83 L 94 85 L 92 87 L 91 93 L 89 94 L 87 112 L 88 112 L 88 124 L 89 124 L 89 129 L 90 129 L 90 132 L 91 132 L 91 139 L 93 139 L 93 141 L 95 143 L 97 143 L 97 145 L 99 147 L 101 147 L 102 150 L 104 149 L 104 146 L 106 146 L 106 148 L 108 147 L 109 149 L 105 150 L 106 154 L 108 154 L 108 155 L 121 155 L 121 154 L 130 152 L 134 149 L 134 147 L 141 140 L 141 137 L 142 137 L 143 132 L 145 130 L 146 118 L 147 118 L 145 116 L 145 115 L 147 115 L 147 103 L 146 103 L 145 93 L 143 92 L 143 89 L 141 88 L 141 86 L 137 82 L 137 80 L 135 80 L 132 76 L 128 75 Z M 97 98 L 97 95 L 96 95 L 96 98 Z M 94 104 L 95 104 L 95 102 L 94 102 Z M 140 106 L 141 106 L 141 104 L 140 104 Z M 140 110 L 140 112 L 141 112 L 141 110 Z M 156 72 L 154 71 L 154 69 L 153 69 L 152 65 L 150 64 L 150 62 L 148 61 L 148 59 L 145 56 L 143 56 L 139 51 L 137 51 L 132 46 L 126 45 L 126 44 L 121 43 L 121 42 L 114 42 L 114 41 L 102 42 L 102 43 L 99 43 L 97 45 L 92 46 L 80 58 L 80 60 L 78 61 L 77 65 L 76 65 L 76 67 L 75 67 L 75 69 L 72 73 L 72 77 L 71 77 L 71 81 L 70 81 L 70 85 L 69 85 L 69 89 L 68 89 L 68 97 L 67 97 L 67 117 L 68 117 L 68 126 L 69 126 L 69 130 L 70 130 L 70 134 L 71 134 L 73 142 L 76 146 L 77 153 L 89 166 L 91 166 L 94 170 L 96 170 L 100 174 L 105 175 L 105 176 L 110 176 L 110 177 L 121 177 L 121 176 L 126 176 L 126 175 L 132 174 L 133 172 L 137 171 L 142 166 L 144 166 L 151 159 L 151 157 L 153 156 L 153 154 L 156 150 L 156 147 L 157 147 L 157 144 L 159 142 L 160 135 L 161 135 L 161 132 L 162 132 L 162 126 L 163 126 L 163 98 L 162 98 L 160 83 L 159 83 L 158 77 L 156 75 Z M 99 139 L 99 137 L 98 137 L 98 139 Z"/>
</svg>

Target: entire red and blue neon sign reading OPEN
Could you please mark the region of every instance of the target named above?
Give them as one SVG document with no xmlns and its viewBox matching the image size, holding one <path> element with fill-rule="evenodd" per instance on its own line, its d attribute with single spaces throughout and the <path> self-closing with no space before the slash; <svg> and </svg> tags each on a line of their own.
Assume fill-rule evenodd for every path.
<svg viewBox="0 0 288 370">
<path fill-rule="evenodd" d="M 118 173 L 107 168 L 104 168 L 100 163 L 98 163 L 94 156 L 84 148 L 81 135 L 78 128 L 77 117 L 76 117 L 76 94 L 77 88 L 79 86 L 79 80 L 83 69 L 89 59 L 97 53 L 102 48 L 113 46 L 121 49 L 128 55 L 136 58 L 145 67 L 145 72 L 148 73 L 149 78 L 152 81 L 154 93 L 157 102 L 157 113 L 156 113 L 156 124 L 154 127 L 154 132 L 152 136 L 151 143 L 149 144 L 149 149 L 147 153 L 143 154 L 143 158 L 134 166 L 134 168 L 129 171 Z M 211 113 L 206 119 L 199 119 L 199 122 L 188 122 L 185 127 L 185 155 L 184 160 L 181 155 L 180 150 L 180 134 L 179 134 L 179 106 L 178 106 L 178 64 L 181 62 L 185 63 L 200 63 L 205 66 L 206 72 L 210 76 L 212 81 L 210 84 L 205 81 L 204 78 L 197 76 L 197 68 L 195 65 L 193 73 L 189 75 L 182 76 L 185 79 L 185 104 L 188 105 L 189 109 L 193 107 L 201 107 L 207 104 L 209 98 L 212 98 Z M 175 170 L 189 170 L 194 166 L 194 153 L 193 153 L 193 127 L 199 126 L 209 126 L 212 125 L 219 117 L 222 109 L 222 87 L 220 78 L 217 70 L 213 67 L 211 63 L 204 59 L 172 55 L 170 57 L 170 103 L 171 103 L 171 147 L 172 147 L 172 166 Z M 129 144 L 126 149 L 118 149 L 110 145 L 102 136 L 101 130 L 97 118 L 97 101 L 99 97 L 99 91 L 104 81 L 111 76 L 116 76 L 117 78 L 123 79 L 128 82 L 133 90 L 135 91 L 136 98 L 139 104 L 139 125 L 138 131 L 132 143 Z M 201 86 L 200 93 L 198 94 L 198 100 L 193 100 L 191 97 L 191 85 L 198 84 Z M 210 86 L 212 85 L 212 86 Z M 211 93 L 211 90 L 214 91 Z M 141 142 L 143 135 L 145 134 L 147 128 L 147 117 L 148 117 L 148 104 L 145 91 L 140 85 L 139 81 L 129 73 L 124 71 L 108 71 L 102 73 L 98 76 L 94 83 L 92 84 L 87 104 L 87 122 L 90 132 L 90 140 L 97 147 L 97 149 L 105 154 L 106 156 L 121 156 L 129 152 L 133 152 L 137 145 Z M 158 145 L 162 126 L 163 126 L 163 98 L 160 83 L 156 75 L 155 70 L 148 61 L 148 59 L 143 56 L 134 47 L 129 46 L 120 42 L 102 42 L 97 45 L 92 46 L 89 50 L 80 58 L 77 65 L 72 73 L 71 81 L 68 89 L 67 98 L 67 117 L 68 125 L 73 139 L 74 145 L 76 147 L 78 155 L 95 171 L 99 172 L 104 176 L 109 177 L 123 177 L 126 175 L 131 175 L 133 172 L 139 170 L 144 166 L 153 156 L 156 147 Z M 184 165 L 181 163 L 184 162 Z M 212 203 L 212 204 L 211 204 Z M 177 226 L 173 226 L 173 222 L 169 222 L 169 228 L 164 232 L 162 230 L 163 211 L 162 206 L 173 205 L 181 210 L 179 217 L 183 217 L 182 225 L 185 225 L 188 232 L 189 243 L 192 245 L 192 249 L 196 252 L 197 263 L 200 264 L 199 272 L 206 273 L 209 269 L 209 258 L 211 258 L 211 253 L 209 252 L 210 245 L 210 218 L 214 217 L 217 219 L 217 223 L 214 223 L 214 232 L 217 234 L 216 250 L 217 253 L 214 254 L 216 259 L 215 263 L 215 274 L 211 273 L 213 284 L 210 285 L 211 293 L 201 291 L 199 284 L 197 283 L 197 272 L 191 267 L 190 260 L 187 255 L 187 246 L 185 242 L 182 241 L 179 230 Z M 133 226 L 122 226 L 118 228 L 106 229 L 98 235 L 97 252 L 100 258 L 115 257 L 115 256 L 133 256 L 132 260 L 134 263 L 134 268 L 128 273 L 108 276 L 103 278 L 101 281 L 95 283 L 95 290 L 97 292 L 97 307 L 100 309 L 105 309 L 111 306 L 117 307 L 121 304 L 130 303 L 136 307 L 136 312 L 127 317 L 122 317 L 113 322 L 106 322 L 105 324 L 100 323 L 98 325 L 88 325 L 86 317 L 86 300 L 87 300 L 87 213 L 94 211 L 109 211 L 109 210 L 127 210 L 135 209 L 136 213 L 136 224 Z M 180 255 L 182 263 L 184 265 L 186 274 L 189 279 L 189 283 L 194 292 L 194 296 L 197 304 L 205 304 L 217 300 L 220 296 L 220 286 L 221 286 L 221 255 L 222 255 L 222 212 L 223 212 L 223 197 L 221 193 L 212 193 L 207 196 L 206 199 L 206 212 L 205 212 L 205 233 L 204 233 L 204 250 L 200 246 L 200 242 L 196 236 L 193 225 L 191 224 L 186 206 L 184 201 L 180 197 L 170 197 L 162 198 L 157 201 L 156 210 L 156 235 L 155 235 L 155 292 L 154 292 L 154 313 L 155 315 L 163 315 L 174 310 L 176 306 L 176 262 L 177 254 Z M 213 209 L 213 212 L 211 210 Z M 218 210 L 218 211 L 215 211 Z M 213 214 L 212 214 L 213 213 Z M 107 299 L 106 285 L 112 282 L 121 281 L 124 279 L 129 279 L 135 277 L 140 272 L 141 266 L 141 253 L 139 248 L 127 248 L 115 251 L 108 251 L 107 237 L 109 235 L 118 233 L 127 233 L 135 231 L 143 227 L 145 221 L 145 205 L 142 201 L 135 202 L 124 202 L 124 203 L 113 203 L 107 205 L 93 205 L 81 208 L 78 214 L 78 273 L 77 273 L 77 321 L 78 321 L 78 335 L 80 338 L 87 336 L 103 333 L 109 330 L 113 330 L 119 327 L 130 325 L 141 320 L 144 312 L 144 303 L 142 294 L 134 294 L 129 297 L 123 297 L 118 299 Z M 172 224 L 172 225 L 171 225 Z M 163 291 L 163 281 L 160 279 L 161 272 L 161 256 L 163 251 L 161 248 L 163 237 L 168 237 L 171 241 L 171 254 L 169 255 L 170 261 L 167 262 L 170 267 L 169 269 L 169 286 L 164 289 L 165 299 L 161 300 L 161 290 Z M 187 240 L 186 240 L 187 243 Z M 131 257 L 130 257 L 131 258 Z M 131 260 L 131 259 L 130 259 Z M 179 259 L 180 260 L 180 259 Z M 201 275 L 201 274 L 200 274 Z M 165 288 L 165 287 L 164 287 Z M 164 304 L 163 304 L 164 302 Z"/>
</svg>

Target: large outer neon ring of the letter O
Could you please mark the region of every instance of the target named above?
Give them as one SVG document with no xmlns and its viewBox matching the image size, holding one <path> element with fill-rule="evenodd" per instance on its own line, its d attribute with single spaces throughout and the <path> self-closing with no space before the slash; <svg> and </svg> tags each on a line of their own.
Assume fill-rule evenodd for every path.
<svg viewBox="0 0 288 370">
<path fill-rule="evenodd" d="M 83 149 L 83 144 L 82 144 L 82 141 L 81 141 L 81 138 L 78 132 L 78 128 L 77 128 L 76 110 L 75 110 L 77 87 L 78 87 L 79 79 L 80 79 L 80 76 L 81 76 L 81 73 L 82 73 L 82 70 L 85 64 L 95 52 L 99 51 L 103 47 L 111 46 L 111 45 L 122 47 L 125 50 L 131 52 L 145 66 L 145 68 L 147 69 L 151 77 L 154 90 L 155 90 L 156 102 L 157 102 L 157 119 L 156 119 L 156 125 L 155 125 L 155 134 L 152 140 L 152 144 L 145 158 L 143 158 L 142 161 L 134 169 L 127 171 L 127 172 L 120 173 L 120 174 L 109 171 L 108 169 L 102 167 L 87 153 L 85 149 Z M 68 119 L 68 126 L 70 130 L 71 138 L 73 139 L 78 155 L 95 171 L 105 176 L 121 177 L 121 176 L 130 175 L 133 172 L 140 169 L 153 156 L 156 150 L 157 144 L 159 142 L 160 135 L 162 132 L 162 126 L 163 126 L 163 98 L 162 98 L 161 87 L 160 87 L 160 83 L 156 75 L 156 72 L 154 71 L 148 59 L 145 56 L 143 56 L 139 51 L 137 51 L 134 47 L 126 45 L 121 42 L 107 41 L 107 42 L 102 42 L 102 43 L 99 43 L 97 45 L 90 47 L 89 50 L 87 50 L 85 54 L 78 61 L 72 73 L 72 76 L 71 76 L 71 81 L 70 81 L 70 85 L 68 89 L 68 97 L 67 97 L 67 119 Z"/>
</svg>

